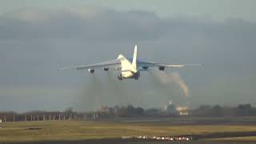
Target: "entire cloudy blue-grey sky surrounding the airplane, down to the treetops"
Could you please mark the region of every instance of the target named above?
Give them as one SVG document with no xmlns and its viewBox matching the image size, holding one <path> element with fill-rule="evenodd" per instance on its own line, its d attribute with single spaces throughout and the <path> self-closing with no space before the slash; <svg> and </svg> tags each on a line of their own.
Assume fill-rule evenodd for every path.
<svg viewBox="0 0 256 144">
<path fill-rule="evenodd" d="M 0 0 L 0 111 L 255 106 L 255 10 L 253 0 Z M 140 59 L 202 66 L 123 82 L 57 70 L 131 57 L 134 45 Z"/>
</svg>

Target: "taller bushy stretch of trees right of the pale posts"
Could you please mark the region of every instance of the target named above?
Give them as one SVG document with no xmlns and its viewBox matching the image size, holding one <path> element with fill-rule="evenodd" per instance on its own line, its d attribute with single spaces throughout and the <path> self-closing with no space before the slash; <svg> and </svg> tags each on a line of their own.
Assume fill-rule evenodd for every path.
<svg viewBox="0 0 256 144">
<path fill-rule="evenodd" d="M 244 117 L 256 116 L 256 107 L 250 104 L 239 104 L 238 106 L 203 105 L 196 109 L 187 109 L 186 117 Z M 184 110 L 182 111 L 184 112 Z M 181 111 L 176 106 L 170 105 L 166 109 L 143 109 L 134 106 L 114 106 L 108 109 L 99 110 L 98 114 L 107 116 L 126 117 L 180 117 Z"/>
</svg>

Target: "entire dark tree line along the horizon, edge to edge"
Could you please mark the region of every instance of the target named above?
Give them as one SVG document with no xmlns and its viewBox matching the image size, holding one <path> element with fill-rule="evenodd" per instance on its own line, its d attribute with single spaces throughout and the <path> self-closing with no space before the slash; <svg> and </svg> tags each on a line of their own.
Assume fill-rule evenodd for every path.
<svg viewBox="0 0 256 144">
<path fill-rule="evenodd" d="M 244 117 L 256 116 L 256 107 L 250 104 L 238 106 L 203 105 L 196 109 L 188 109 L 186 117 Z M 171 105 L 167 109 L 143 109 L 135 106 L 102 106 L 92 112 L 76 112 L 72 108 L 64 111 L 30 111 L 16 113 L 14 111 L 0 112 L 2 122 L 18 121 L 60 121 L 60 120 L 101 120 L 104 118 L 135 118 L 135 117 L 179 117 L 180 111 Z"/>
</svg>

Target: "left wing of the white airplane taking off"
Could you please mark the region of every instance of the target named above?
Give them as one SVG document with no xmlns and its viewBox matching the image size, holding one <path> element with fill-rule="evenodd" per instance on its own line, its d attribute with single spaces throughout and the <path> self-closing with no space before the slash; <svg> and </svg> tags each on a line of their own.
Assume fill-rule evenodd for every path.
<svg viewBox="0 0 256 144">
<path fill-rule="evenodd" d="M 87 69 L 95 69 L 95 68 L 110 68 L 110 67 L 119 67 L 121 66 L 121 62 L 118 59 L 106 61 L 106 62 L 98 62 L 95 64 L 90 64 L 90 65 L 82 65 L 82 66 L 70 66 L 70 67 L 61 67 L 58 68 L 58 70 L 87 70 Z"/>
</svg>

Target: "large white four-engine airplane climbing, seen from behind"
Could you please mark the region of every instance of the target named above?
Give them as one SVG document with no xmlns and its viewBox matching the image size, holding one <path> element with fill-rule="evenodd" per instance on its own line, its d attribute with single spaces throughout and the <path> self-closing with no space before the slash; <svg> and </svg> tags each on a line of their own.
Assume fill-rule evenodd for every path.
<svg viewBox="0 0 256 144">
<path fill-rule="evenodd" d="M 126 58 L 122 54 L 118 55 L 117 59 L 99 62 L 90 65 L 83 66 L 71 66 L 71 67 L 62 67 L 58 70 L 88 70 L 90 74 L 94 74 L 95 69 L 102 68 L 104 71 L 108 71 L 110 68 L 115 68 L 118 71 L 118 80 L 123 80 L 126 78 L 134 78 L 138 80 L 140 77 L 141 71 L 148 71 L 150 67 L 158 67 L 158 70 L 165 70 L 166 67 L 182 68 L 185 64 L 165 64 L 158 62 L 145 62 L 137 59 L 137 47 L 134 47 L 134 57 Z M 194 64 L 196 65 L 196 64 Z"/>
</svg>

